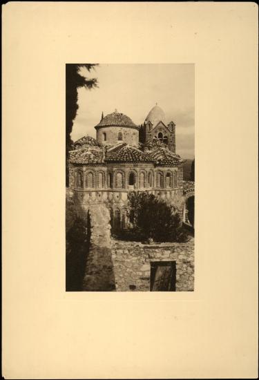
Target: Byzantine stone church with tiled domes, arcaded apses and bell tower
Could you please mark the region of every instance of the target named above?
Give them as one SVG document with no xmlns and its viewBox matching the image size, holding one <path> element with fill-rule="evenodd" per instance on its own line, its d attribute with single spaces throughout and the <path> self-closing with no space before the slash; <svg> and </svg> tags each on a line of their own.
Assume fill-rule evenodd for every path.
<svg viewBox="0 0 259 380">
<path fill-rule="evenodd" d="M 180 216 L 184 212 L 184 160 L 175 153 L 175 123 L 157 104 L 143 124 L 115 110 L 88 135 L 74 142 L 69 153 L 69 193 L 77 213 L 90 205 L 106 205 L 114 229 L 131 227 L 129 191 L 148 191 Z"/>
</svg>

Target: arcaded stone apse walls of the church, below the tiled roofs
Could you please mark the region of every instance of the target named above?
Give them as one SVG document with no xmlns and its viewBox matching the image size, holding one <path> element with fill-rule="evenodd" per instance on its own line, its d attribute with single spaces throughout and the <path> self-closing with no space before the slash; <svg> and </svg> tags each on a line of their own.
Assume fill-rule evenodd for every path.
<svg viewBox="0 0 259 380">
<path fill-rule="evenodd" d="M 80 181 L 77 178 L 79 173 Z M 130 182 L 131 173 L 134 175 L 134 184 Z M 169 178 L 167 178 L 168 174 Z M 111 183 L 108 180 L 109 175 L 111 175 Z M 162 185 L 166 187 L 155 187 L 157 175 L 162 175 Z M 182 167 L 155 167 L 152 169 L 151 164 L 147 163 L 116 163 L 108 164 L 106 167 L 103 165 L 73 167 L 70 164 L 69 176 L 69 193 L 75 202 L 78 216 L 81 211 L 87 211 L 90 205 L 103 204 L 108 208 L 112 222 L 119 218 L 118 223 L 115 222 L 116 225 L 127 227 L 128 192 L 148 191 L 157 199 L 163 200 L 175 208 L 182 218 L 184 209 Z M 109 187 L 110 185 L 111 187 Z"/>
</svg>

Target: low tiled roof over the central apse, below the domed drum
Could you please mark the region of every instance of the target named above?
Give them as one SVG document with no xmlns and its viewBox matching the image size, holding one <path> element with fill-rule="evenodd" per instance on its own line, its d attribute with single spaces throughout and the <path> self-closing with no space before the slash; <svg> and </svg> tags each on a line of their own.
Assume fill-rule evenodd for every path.
<svg viewBox="0 0 259 380">
<path fill-rule="evenodd" d="M 148 153 L 128 144 L 120 144 L 106 153 L 106 162 L 153 162 Z"/>
</svg>

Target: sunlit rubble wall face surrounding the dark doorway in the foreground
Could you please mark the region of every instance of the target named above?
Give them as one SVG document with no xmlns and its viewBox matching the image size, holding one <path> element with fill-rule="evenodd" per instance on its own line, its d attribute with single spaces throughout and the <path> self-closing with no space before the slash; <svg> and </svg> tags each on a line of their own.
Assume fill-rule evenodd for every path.
<svg viewBox="0 0 259 380">
<path fill-rule="evenodd" d="M 144 245 L 112 239 L 113 270 L 117 292 L 150 290 L 151 263 L 176 263 L 176 292 L 194 290 L 194 239 L 187 243 Z"/>
</svg>

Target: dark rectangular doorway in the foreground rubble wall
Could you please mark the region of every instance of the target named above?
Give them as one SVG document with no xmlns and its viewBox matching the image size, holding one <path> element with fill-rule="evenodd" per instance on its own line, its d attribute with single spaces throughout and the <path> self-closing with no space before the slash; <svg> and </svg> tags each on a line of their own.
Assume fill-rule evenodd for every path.
<svg viewBox="0 0 259 380">
<path fill-rule="evenodd" d="M 175 292 L 175 281 L 175 261 L 156 261 L 151 263 L 151 292 Z"/>
</svg>

